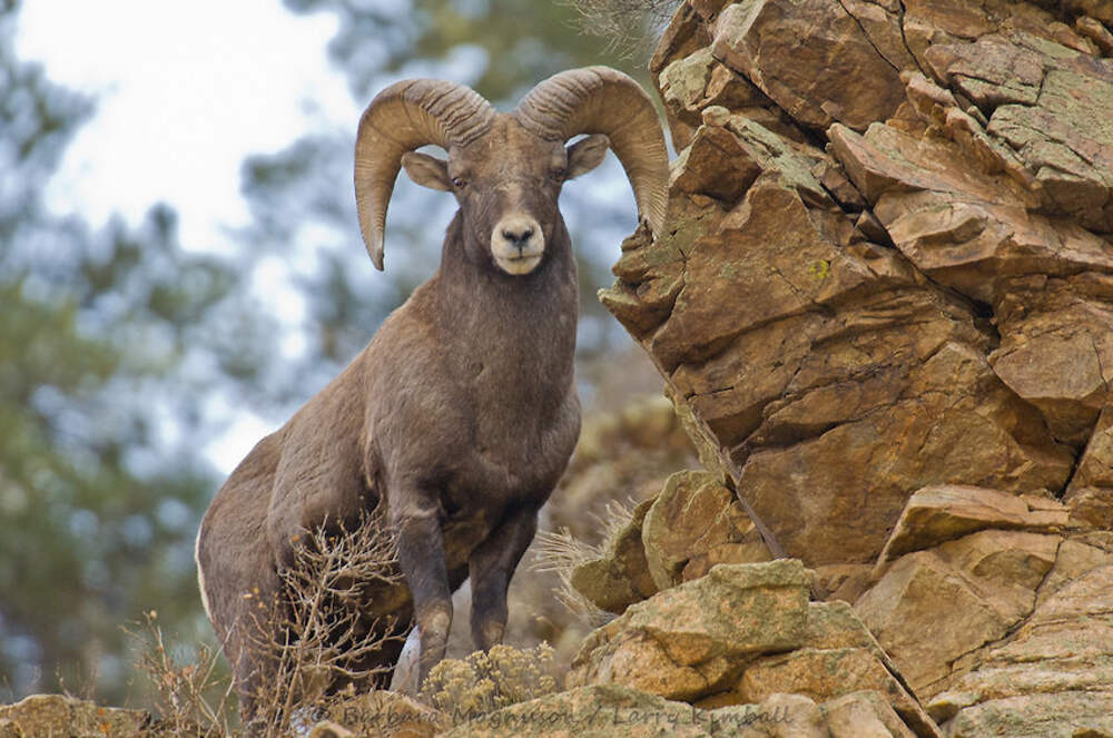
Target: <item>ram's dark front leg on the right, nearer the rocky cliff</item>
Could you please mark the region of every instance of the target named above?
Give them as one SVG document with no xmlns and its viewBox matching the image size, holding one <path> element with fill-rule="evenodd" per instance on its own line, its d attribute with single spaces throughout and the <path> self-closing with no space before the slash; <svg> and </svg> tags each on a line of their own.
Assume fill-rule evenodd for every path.
<svg viewBox="0 0 1113 738">
<path fill-rule="evenodd" d="M 472 639 L 480 650 L 502 642 L 510 579 L 536 530 L 538 511 L 532 508 L 519 511 L 492 531 L 467 562 L 472 580 Z"/>
</svg>

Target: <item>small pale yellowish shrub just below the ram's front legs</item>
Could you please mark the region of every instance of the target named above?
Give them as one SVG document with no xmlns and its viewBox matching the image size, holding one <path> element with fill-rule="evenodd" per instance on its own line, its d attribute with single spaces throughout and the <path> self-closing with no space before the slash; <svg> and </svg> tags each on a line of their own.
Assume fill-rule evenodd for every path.
<svg viewBox="0 0 1113 738">
<path fill-rule="evenodd" d="M 422 685 L 422 699 L 459 725 L 558 690 L 553 650 L 493 646 L 465 659 L 445 659 Z"/>
</svg>

